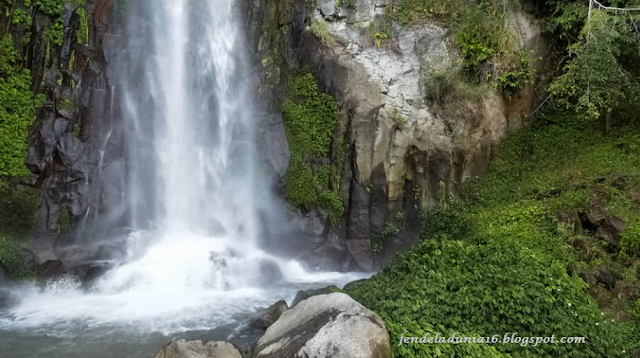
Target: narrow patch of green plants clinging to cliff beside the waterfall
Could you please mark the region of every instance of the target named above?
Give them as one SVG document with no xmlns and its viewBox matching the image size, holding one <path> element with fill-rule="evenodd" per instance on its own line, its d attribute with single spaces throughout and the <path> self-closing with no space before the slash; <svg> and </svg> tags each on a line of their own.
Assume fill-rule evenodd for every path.
<svg viewBox="0 0 640 358">
<path fill-rule="evenodd" d="M 338 106 L 333 97 L 319 91 L 313 75 L 303 74 L 289 84 L 282 113 L 291 150 L 285 178 L 287 201 L 305 209 L 319 206 L 337 225 L 344 214 L 338 193 L 341 170 L 326 163 L 335 158 L 334 162 L 341 162 L 339 153 L 332 153 Z"/>
</svg>

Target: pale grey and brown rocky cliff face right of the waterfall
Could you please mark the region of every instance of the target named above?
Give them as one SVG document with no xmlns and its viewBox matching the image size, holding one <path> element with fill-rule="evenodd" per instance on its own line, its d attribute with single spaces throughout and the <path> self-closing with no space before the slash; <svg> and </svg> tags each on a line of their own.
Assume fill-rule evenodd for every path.
<svg viewBox="0 0 640 358">
<path fill-rule="evenodd" d="M 309 263 L 318 268 L 371 270 L 414 243 L 420 211 L 438 206 L 455 196 L 466 179 L 484 174 L 500 138 L 521 127 L 533 110 L 533 86 L 511 99 L 491 90 L 481 100 L 430 100 L 429 85 L 438 70 L 455 71 L 459 62 L 448 30 L 434 23 L 394 27 L 393 40 L 382 41 L 369 29 L 382 21 L 387 4 L 252 4 L 263 93 L 277 103 L 274 91 L 278 94 L 292 73 L 306 70 L 340 108 L 334 150 L 344 143 L 339 175 L 346 218 L 339 228 L 319 209 L 302 212 L 298 219 L 301 231 L 312 237 Z M 541 53 L 540 30 L 521 9 L 516 5 L 508 12 L 511 30 L 520 46 Z M 282 137 L 281 121 L 273 121 L 272 131 Z M 284 180 L 287 152 L 271 154 Z M 372 242 L 377 238 L 385 242 Z"/>
</svg>

